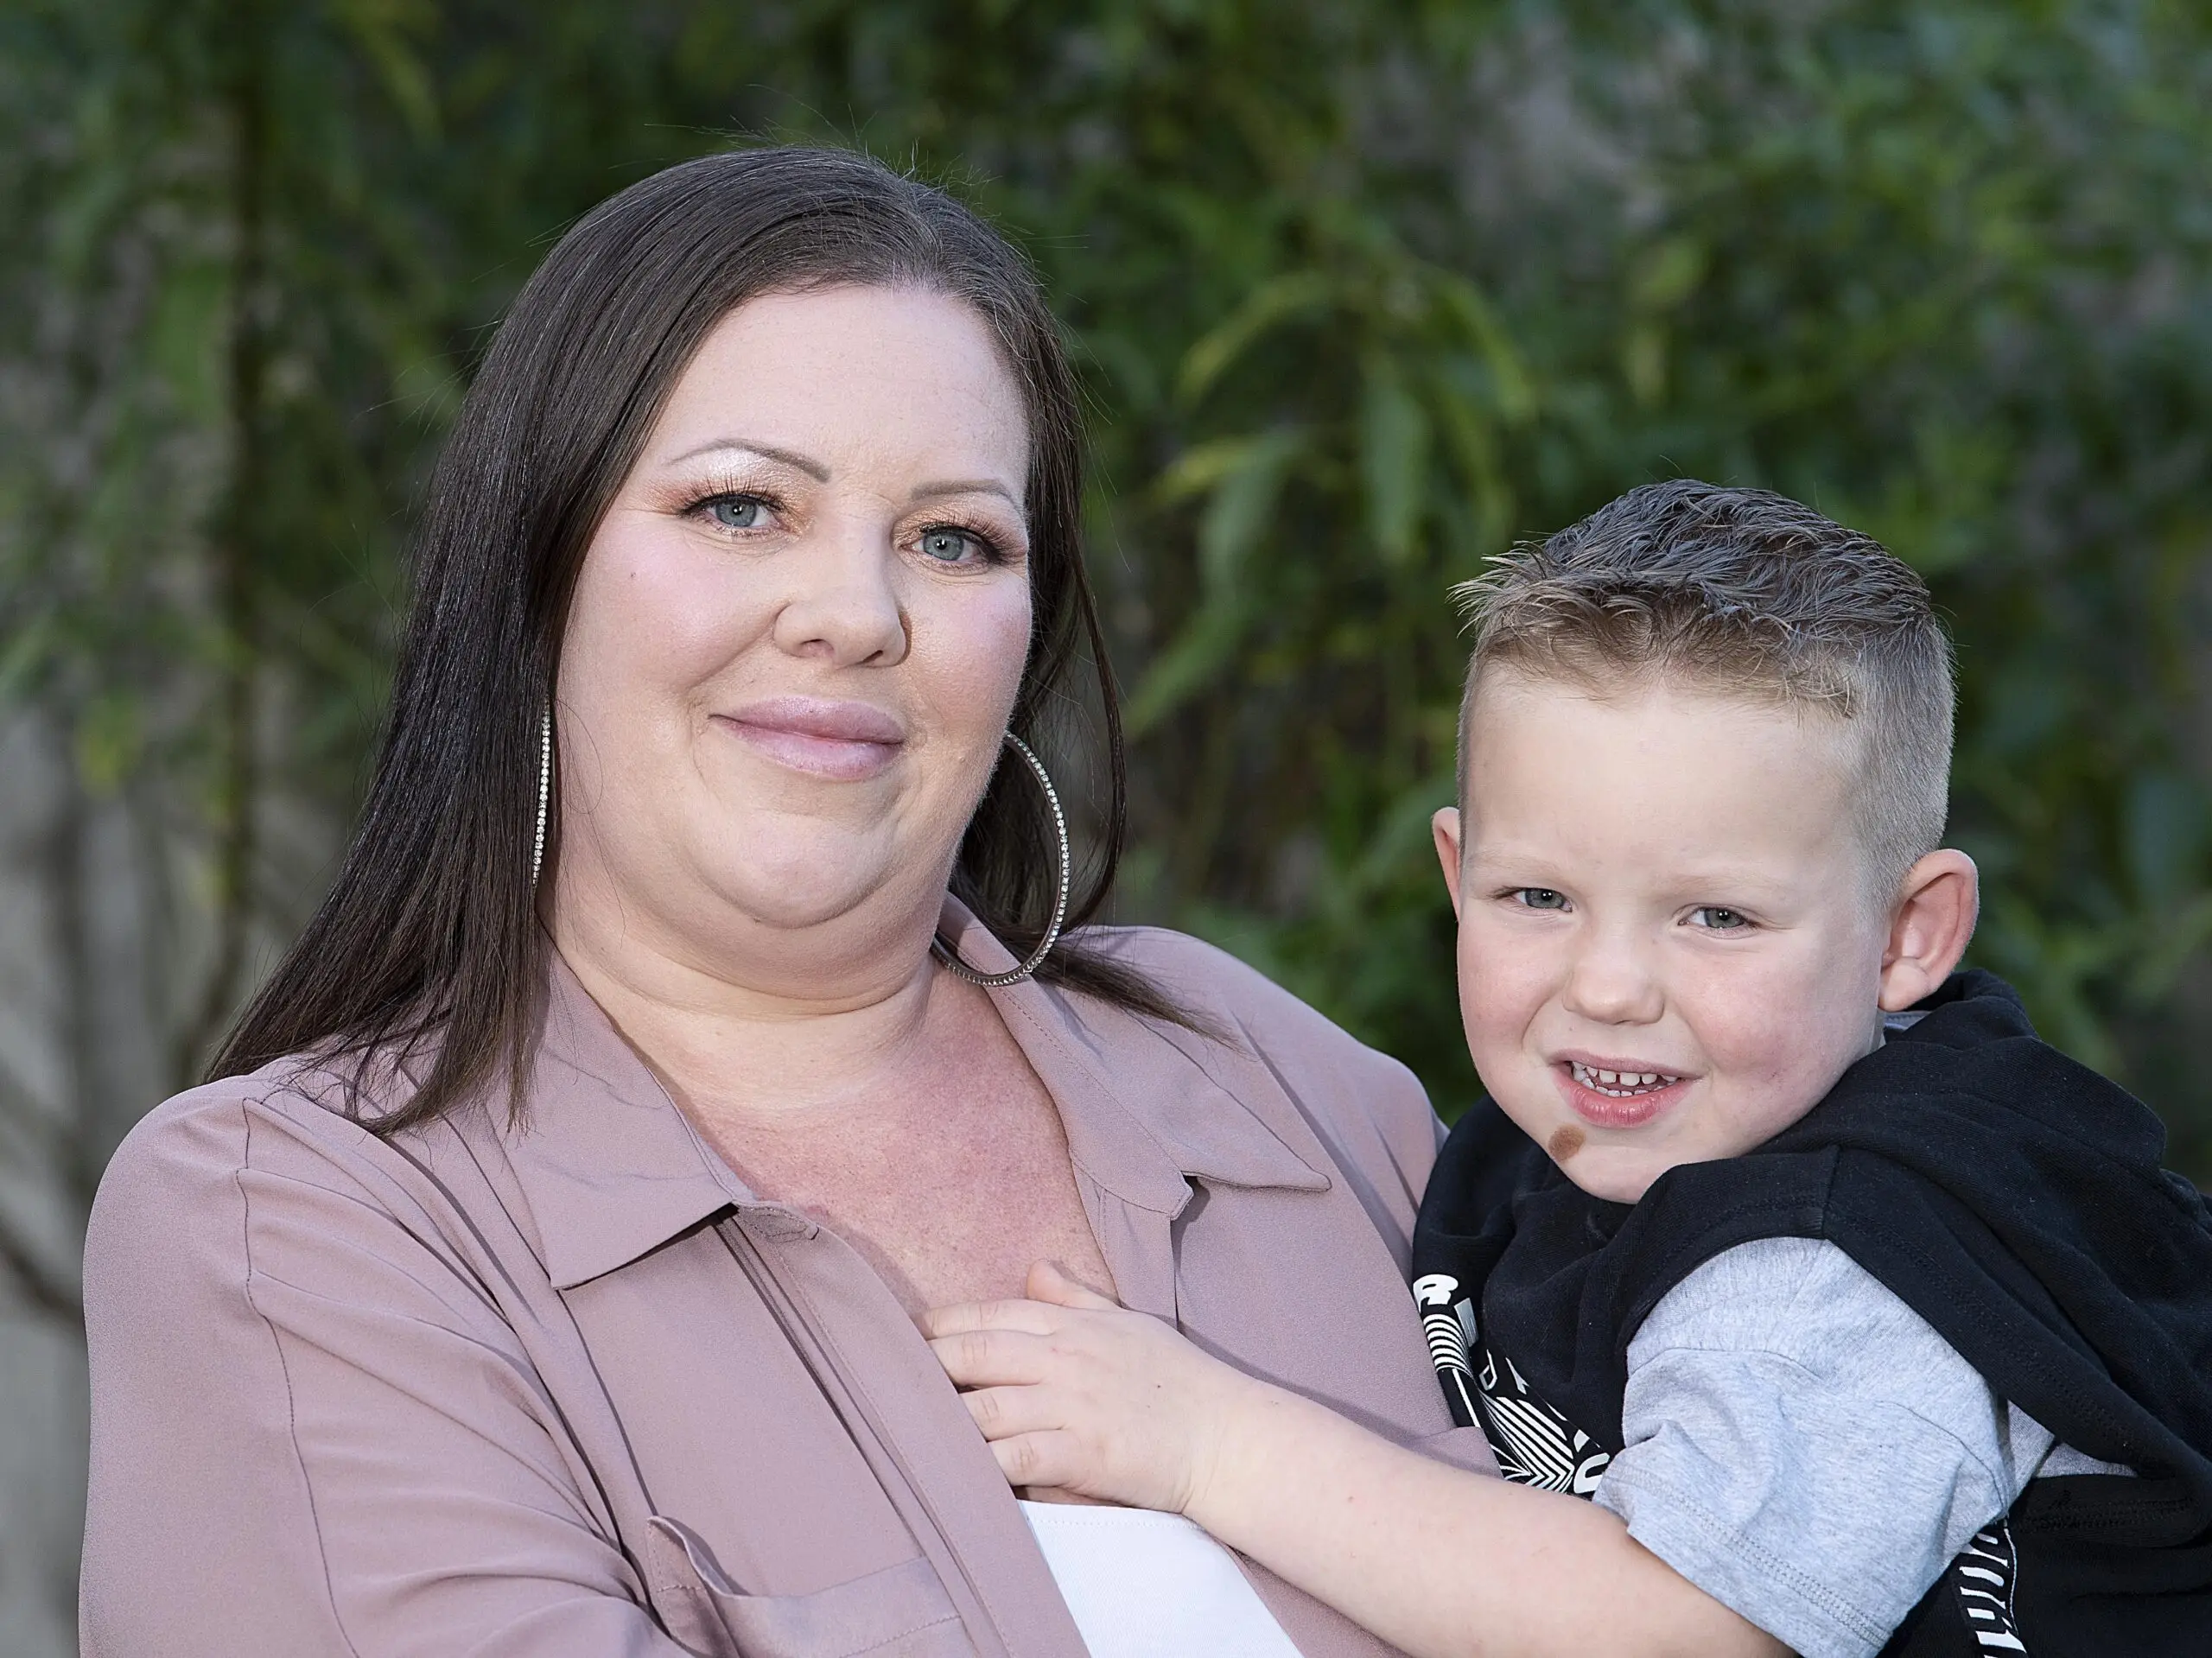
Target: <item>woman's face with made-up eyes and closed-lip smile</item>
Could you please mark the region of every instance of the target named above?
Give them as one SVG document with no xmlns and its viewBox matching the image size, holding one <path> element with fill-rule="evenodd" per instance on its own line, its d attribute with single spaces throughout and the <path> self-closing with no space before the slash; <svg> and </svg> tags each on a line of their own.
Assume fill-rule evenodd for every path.
<svg viewBox="0 0 2212 1658">
<path fill-rule="evenodd" d="M 723 318 L 577 579 L 560 931 L 584 906 L 708 966 L 761 928 L 933 924 L 1029 652 L 1026 475 L 960 301 Z"/>
</svg>

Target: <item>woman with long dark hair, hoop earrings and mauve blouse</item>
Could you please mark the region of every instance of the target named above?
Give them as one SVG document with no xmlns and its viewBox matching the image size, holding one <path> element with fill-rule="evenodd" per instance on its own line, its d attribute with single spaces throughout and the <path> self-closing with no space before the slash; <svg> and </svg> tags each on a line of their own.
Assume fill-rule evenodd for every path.
<svg viewBox="0 0 2212 1658">
<path fill-rule="evenodd" d="M 102 1183 L 86 1654 L 1073 1658 L 1161 1612 L 1150 1547 L 1172 1638 L 1376 1649 L 1203 1539 L 1024 1517 L 911 1322 L 1051 1258 L 1484 1457 L 1400 1278 L 1418 1085 L 1190 940 L 1064 931 L 1121 802 L 1077 511 L 1051 318 L 929 188 L 721 155 L 553 250 L 330 900 Z M 1086 652 L 1073 880 L 1033 756 Z"/>
</svg>

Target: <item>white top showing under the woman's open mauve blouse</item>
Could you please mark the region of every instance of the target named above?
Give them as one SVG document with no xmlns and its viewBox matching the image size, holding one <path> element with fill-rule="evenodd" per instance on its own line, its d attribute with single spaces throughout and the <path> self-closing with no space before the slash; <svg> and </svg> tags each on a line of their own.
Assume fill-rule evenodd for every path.
<svg viewBox="0 0 2212 1658">
<path fill-rule="evenodd" d="M 1022 1503 L 1091 1658 L 1298 1658 L 1237 1561 L 1181 1514 Z"/>
</svg>

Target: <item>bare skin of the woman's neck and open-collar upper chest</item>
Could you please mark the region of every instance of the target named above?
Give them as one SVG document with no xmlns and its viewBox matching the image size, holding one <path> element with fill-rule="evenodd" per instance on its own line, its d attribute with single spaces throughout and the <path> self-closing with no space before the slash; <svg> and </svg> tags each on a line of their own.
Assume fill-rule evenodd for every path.
<svg viewBox="0 0 2212 1658">
<path fill-rule="evenodd" d="M 1020 1295 L 1035 1260 L 1110 1293 L 1055 1101 L 991 999 L 931 964 L 927 898 L 821 928 L 726 917 L 714 957 L 635 906 L 568 906 L 553 937 L 723 1163 L 909 1313 Z"/>
</svg>

